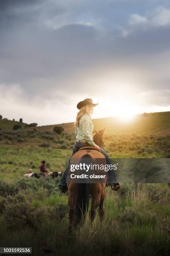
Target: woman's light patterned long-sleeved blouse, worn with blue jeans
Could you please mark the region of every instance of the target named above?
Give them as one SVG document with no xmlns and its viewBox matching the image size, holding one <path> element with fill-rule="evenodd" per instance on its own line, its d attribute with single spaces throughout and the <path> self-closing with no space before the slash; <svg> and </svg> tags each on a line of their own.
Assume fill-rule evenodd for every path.
<svg viewBox="0 0 170 256">
<path fill-rule="evenodd" d="M 79 120 L 79 127 L 76 127 L 75 129 L 76 139 L 80 141 L 86 140 L 91 146 L 95 146 L 92 138 L 93 128 L 94 125 L 90 115 L 85 113 Z"/>
</svg>

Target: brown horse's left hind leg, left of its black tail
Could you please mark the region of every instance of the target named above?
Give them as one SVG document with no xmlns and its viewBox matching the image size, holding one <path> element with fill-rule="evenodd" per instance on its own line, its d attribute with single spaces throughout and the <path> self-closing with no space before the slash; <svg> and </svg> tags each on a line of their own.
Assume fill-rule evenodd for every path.
<svg viewBox="0 0 170 256">
<path fill-rule="evenodd" d="M 71 183 L 68 186 L 68 203 L 70 206 L 69 211 L 69 228 L 68 230 L 72 230 L 73 226 L 73 217 L 74 217 L 74 211 L 75 211 L 75 204 L 77 200 L 77 184 Z"/>
</svg>

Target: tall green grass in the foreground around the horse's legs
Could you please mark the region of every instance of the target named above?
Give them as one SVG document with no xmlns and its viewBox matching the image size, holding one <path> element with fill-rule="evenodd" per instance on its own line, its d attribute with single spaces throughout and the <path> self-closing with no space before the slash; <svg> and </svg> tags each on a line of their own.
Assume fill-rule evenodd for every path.
<svg viewBox="0 0 170 256">
<path fill-rule="evenodd" d="M 47 191 L 42 187 L 35 192 L 35 181 L 27 180 L 26 183 L 32 186 L 29 185 L 22 190 L 22 197 L 23 195 L 25 197 L 17 207 L 23 209 L 24 202 L 27 202 L 26 208 L 29 205 L 33 207 L 32 218 L 38 220 L 36 227 L 18 224 L 17 228 L 15 225 L 15 230 L 12 229 L 14 223 L 9 210 L 13 212 L 16 223 L 20 220 L 15 217 L 13 210 L 15 205 L 11 201 L 10 208 L 0 213 L 1 246 L 32 246 L 33 255 L 45 255 L 45 248 L 50 251 L 50 255 L 135 256 L 137 251 L 141 256 L 168 255 L 170 234 L 166 228 L 162 227 L 162 223 L 156 216 L 157 213 L 160 219 L 164 220 L 165 227 L 170 227 L 168 218 L 170 188 L 168 185 L 138 184 L 134 187 L 130 184 L 122 184 L 123 195 L 121 191 L 113 192 L 107 188 L 103 222 L 100 222 L 96 211 L 95 220 L 90 224 L 87 214 L 85 225 L 78 226 L 70 236 L 67 232 L 69 209 L 67 208 L 67 194 L 60 196 L 57 191 L 55 195 L 46 194 Z M 47 185 L 43 179 L 41 184 Z M 49 183 L 50 186 L 52 184 L 53 181 Z M 150 191 L 152 195 L 158 192 L 160 200 L 154 202 L 151 199 L 153 197 L 150 197 Z M 168 194 L 166 197 L 165 192 Z M 57 212 L 56 209 L 58 209 Z M 3 219 L 4 216 L 5 219 Z"/>
</svg>

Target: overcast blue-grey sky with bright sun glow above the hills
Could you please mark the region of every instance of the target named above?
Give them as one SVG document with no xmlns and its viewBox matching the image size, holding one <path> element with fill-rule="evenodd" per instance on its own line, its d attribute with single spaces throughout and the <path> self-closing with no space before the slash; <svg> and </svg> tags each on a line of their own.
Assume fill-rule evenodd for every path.
<svg viewBox="0 0 170 256">
<path fill-rule="evenodd" d="M 170 111 L 169 0 L 0 0 L 0 114 L 38 125 Z"/>
</svg>

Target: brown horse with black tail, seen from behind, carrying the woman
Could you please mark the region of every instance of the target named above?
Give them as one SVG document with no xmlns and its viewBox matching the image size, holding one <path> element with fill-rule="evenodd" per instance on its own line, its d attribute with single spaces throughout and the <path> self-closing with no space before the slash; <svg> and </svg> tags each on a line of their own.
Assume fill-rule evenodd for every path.
<svg viewBox="0 0 170 256">
<path fill-rule="evenodd" d="M 103 148 L 103 140 L 102 136 L 105 132 L 105 129 L 102 131 L 95 131 L 93 133 L 93 141 L 95 144 Z M 89 159 L 100 159 L 105 161 L 105 156 L 99 151 L 94 150 L 94 148 L 86 149 L 86 147 L 77 151 L 71 159 L 81 159 L 81 158 L 89 158 Z M 71 183 L 67 180 L 68 187 L 68 202 L 70 205 L 69 212 L 69 230 L 72 229 L 73 225 L 77 225 L 78 223 L 83 223 L 85 220 L 85 215 L 88 210 L 89 205 L 89 195 L 92 197 L 91 210 L 90 210 L 90 220 L 91 223 L 95 218 L 95 212 L 98 207 L 98 213 L 100 220 L 102 221 L 104 215 L 103 202 L 105 199 L 105 186 L 107 180 L 101 183 L 83 183 L 83 184 L 75 184 Z M 116 190 L 116 189 L 114 189 Z M 74 220 L 75 217 L 75 220 Z"/>
</svg>

